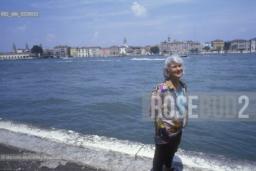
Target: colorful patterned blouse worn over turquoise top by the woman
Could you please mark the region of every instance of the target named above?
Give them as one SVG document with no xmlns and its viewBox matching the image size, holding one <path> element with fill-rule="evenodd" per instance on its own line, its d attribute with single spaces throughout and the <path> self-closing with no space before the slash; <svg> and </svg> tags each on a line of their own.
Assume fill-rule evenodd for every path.
<svg viewBox="0 0 256 171">
<path fill-rule="evenodd" d="M 165 80 L 152 92 L 149 116 L 154 119 L 156 144 L 168 143 L 187 125 L 187 86 L 181 81 L 180 85 L 181 88 L 176 93 L 172 82 Z"/>
</svg>

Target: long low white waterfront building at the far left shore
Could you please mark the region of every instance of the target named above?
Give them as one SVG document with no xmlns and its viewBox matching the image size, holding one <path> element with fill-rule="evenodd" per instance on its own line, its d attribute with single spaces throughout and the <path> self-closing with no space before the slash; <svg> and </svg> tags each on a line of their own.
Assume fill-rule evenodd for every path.
<svg viewBox="0 0 256 171">
<path fill-rule="evenodd" d="M 0 53 L 0 60 L 9 59 L 34 59 L 36 56 L 30 52 L 18 52 L 18 53 Z"/>
</svg>

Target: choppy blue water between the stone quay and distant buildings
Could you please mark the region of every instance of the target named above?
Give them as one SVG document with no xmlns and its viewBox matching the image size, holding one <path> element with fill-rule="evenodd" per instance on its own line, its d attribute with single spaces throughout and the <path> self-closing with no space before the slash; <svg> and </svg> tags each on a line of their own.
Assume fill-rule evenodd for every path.
<svg viewBox="0 0 256 171">
<path fill-rule="evenodd" d="M 162 56 L 0 61 L 0 118 L 153 144 L 142 94 L 164 81 Z M 188 56 L 188 92 L 255 92 L 256 54 Z M 256 106 L 256 104 L 255 104 Z M 189 122 L 183 150 L 256 160 L 255 122 Z"/>
</svg>

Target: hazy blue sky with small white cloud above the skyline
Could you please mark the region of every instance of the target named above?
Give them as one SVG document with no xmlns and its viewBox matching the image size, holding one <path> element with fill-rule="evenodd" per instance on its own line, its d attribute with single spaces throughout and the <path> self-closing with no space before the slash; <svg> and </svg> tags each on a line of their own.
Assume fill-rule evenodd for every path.
<svg viewBox="0 0 256 171">
<path fill-rule="evenodd" d="M 0 18 L 0 52 L 42 44 L 72 47 L 205 43 L 256 37 L 256 1 L 85 0 L 4 1 L 0 11 L 40 11 L 39 18 Z"/>
</svg>

